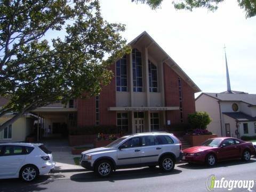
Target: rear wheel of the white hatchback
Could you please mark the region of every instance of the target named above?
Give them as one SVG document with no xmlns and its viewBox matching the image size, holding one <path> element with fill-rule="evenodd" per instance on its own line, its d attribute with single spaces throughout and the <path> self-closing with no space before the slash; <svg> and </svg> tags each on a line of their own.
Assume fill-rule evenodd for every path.
<svg viewBox="0 0 256 192">
<path fill-rule="evenodd" d="M 38 176 L 38 169 L 34 165 L 23 166 L 20 170 L 20 179 L 25 182 L 34 181 Z"/>
</svg>

